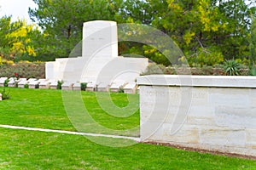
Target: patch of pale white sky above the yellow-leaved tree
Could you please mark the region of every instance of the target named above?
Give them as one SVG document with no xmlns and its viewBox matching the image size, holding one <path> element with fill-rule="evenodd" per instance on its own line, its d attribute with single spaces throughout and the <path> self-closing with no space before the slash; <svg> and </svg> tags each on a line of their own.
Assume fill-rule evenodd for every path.
<svg viewBox="0 0 256 170">
<path fill-rule="evenodd" d="M 12 21 L 26 19 L 29 23 L 28 8 L 36 8 L 32 0 L 0 0 L 0 18 L 4 15 L 12 15 Z"/>
</svg>

